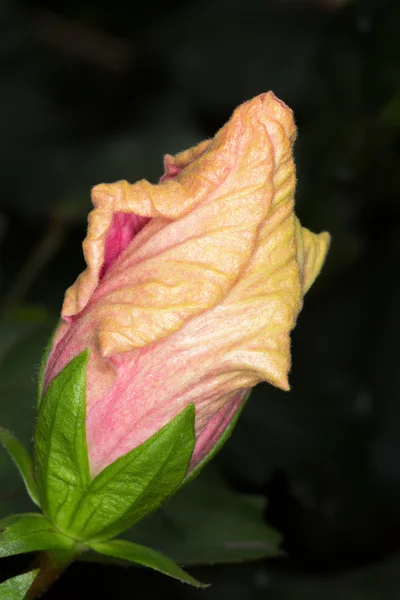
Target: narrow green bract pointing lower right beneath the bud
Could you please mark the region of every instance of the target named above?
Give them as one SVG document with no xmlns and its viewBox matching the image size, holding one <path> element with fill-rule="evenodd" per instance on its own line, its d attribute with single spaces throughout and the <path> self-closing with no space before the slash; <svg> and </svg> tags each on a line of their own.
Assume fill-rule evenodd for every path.
<svg viewBox="0 0 400 600">
<path fill-rule="evenodd" d="M 169 575 L 169 577 L 179 579 L 179 581 L 189 583 L 194 587 L 208 587 L 207 585 L 200 583 L 200 581 L 197 581 L 197 579 L 194 579 L 194 577 L 191 577 L 171 559 L 146 546 L 139 546 L 138 544 L 132 544 L 125 540 L 112 540 L 110 542 L 92 543 L 90 544 L 90 547 L 100 554 L 150 567 L 155 571 L 160 571 L 160 573 L 164 573 L 164 575 Z"/>
</svg>

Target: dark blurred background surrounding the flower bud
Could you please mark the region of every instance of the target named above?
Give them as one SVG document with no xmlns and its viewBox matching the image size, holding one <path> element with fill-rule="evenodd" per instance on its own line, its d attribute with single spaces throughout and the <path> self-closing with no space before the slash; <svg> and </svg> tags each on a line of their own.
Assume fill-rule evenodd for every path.
<svg viewBox="0 0 400 600">
<path fill-rule="evenodd" d="M 398 599 L 400 2 L 9 0 L 0 61 L 0 405 L 28 438 L 92 185 L 157 181 L 163 154 L 272 89 L 299 129 L 297 214 L 332 234 L 293 335 L 292 391 L 258 386 L 216 461 L 232 491 L 268 498 L 286 556 L 189 568 L 206 591 L 77 564 L 46 598 Z"/>
</svg>

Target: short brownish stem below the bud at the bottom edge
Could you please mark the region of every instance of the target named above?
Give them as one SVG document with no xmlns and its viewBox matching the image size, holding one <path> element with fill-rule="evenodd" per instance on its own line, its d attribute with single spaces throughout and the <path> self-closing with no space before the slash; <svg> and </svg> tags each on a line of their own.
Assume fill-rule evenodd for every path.
<svg viewBox="0 0 400 600">
<path fill-rule="evenodd" d="M 41 552 L 33 565 L 33 568 L 39 568 L 39 573 L 29 588 L 25 600 L 34 600 L 44 594 L 79 554 L 80 551 L 76 549 Z"/>
</svg>

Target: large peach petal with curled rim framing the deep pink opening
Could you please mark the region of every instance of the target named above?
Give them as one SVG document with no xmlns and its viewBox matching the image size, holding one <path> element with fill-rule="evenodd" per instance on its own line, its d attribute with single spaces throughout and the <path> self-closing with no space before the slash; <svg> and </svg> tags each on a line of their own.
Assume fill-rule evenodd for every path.
<svg viewBox="0 0 400 600">
<path fill-rule="evenodd" d="M 276 173 L 291 160 L 294 135 L 290 109 L 266 94 L 240 106 L 211 143 L 170 158 L 167 173 L 183 167 L 176 179 L 94 188 L 88 269 L 67 292 L 63 316 L 101 299 L 99 342 L 111 356 L 154 343 L 221 303 L 247 268 L 274 196 L 285 193 Z M 147 241 L 147 227 L 138 234 L 98 286 L 115 211 L 151 217 L 154 231 Z"/>
</svg>

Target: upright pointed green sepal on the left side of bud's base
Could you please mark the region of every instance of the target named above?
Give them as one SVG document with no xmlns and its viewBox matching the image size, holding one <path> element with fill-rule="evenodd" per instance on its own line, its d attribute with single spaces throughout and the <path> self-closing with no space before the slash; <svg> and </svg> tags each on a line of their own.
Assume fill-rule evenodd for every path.
<svg viewBox="0 0 400 600">
<path fill-rule="evenodd" d="M 50 383 L 35 429 L 35 468 L 44 513 L 62 531 L 90 483 L 86 446 L 86 367 L 74 358 Z"/>
</svg>

